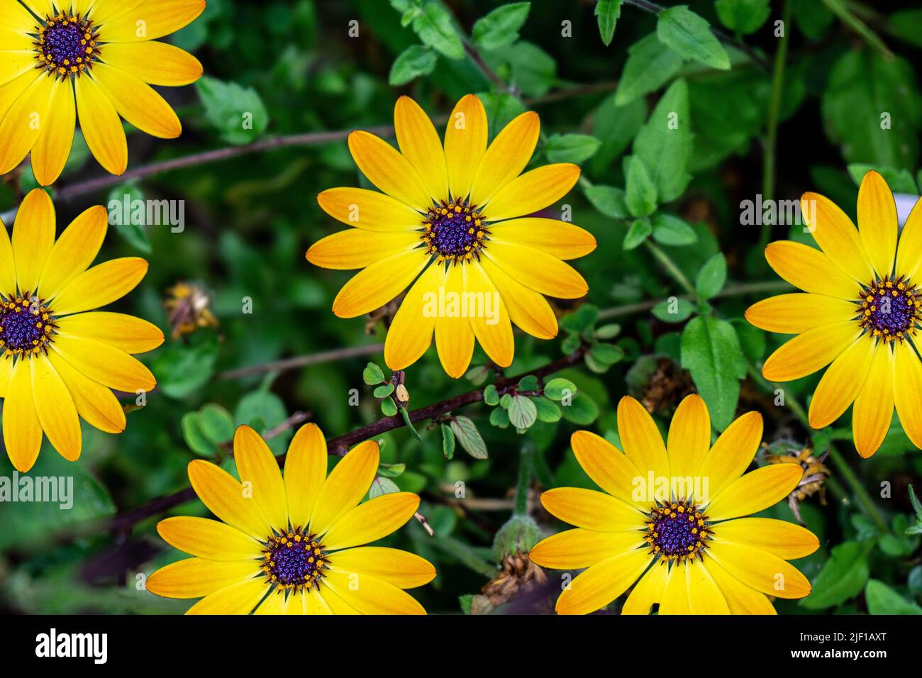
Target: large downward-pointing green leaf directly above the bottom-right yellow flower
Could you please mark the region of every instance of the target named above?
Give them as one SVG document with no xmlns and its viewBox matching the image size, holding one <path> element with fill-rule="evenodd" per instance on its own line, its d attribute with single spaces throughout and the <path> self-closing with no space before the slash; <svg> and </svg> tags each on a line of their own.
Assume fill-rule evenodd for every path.
<svg viewBox="0 0 922 678">
<path fill-rule="evenodd" d="M 726 320 L 691 318 L 682 331 L 681 364 L 707 403 L 715 428 L 727 428 L 737 410 L 739 380 L 746 376 L 736 330 Z"/>
</svg>

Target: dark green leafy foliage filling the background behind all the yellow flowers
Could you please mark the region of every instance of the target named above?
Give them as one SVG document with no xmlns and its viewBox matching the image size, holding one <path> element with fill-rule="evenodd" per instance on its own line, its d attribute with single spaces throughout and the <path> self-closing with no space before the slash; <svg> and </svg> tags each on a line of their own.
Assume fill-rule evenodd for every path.
<svg viewBox="0 0 922 678">
<path fill-rule="evenodd" d="M 577 388 L 571 407 L 527 396 L 497 404 L 488 393 L 493 404 L 454 412 L 469 418 L 455 421 L 457 440 L 448 433 L 451 425 L 429 422 L 418 425 L 419 438 L 406 427 L 381 436 L 383 461 L 391 466 L 382 470 L 378 491 L 419 493 L 420 512 L 435 531 L 430 537 L 411 521 L 386 541 L 437 566 L 436 580 L 415 592 L 425 607 L 431 613 L 469 609 L 470 594 L 497 572 L 494 535 L 516 507 L 526 506 L 546 533 L 561 529 L 536 500 L 542 488 L 592 486 L 568 449 L 569 435 L 589 428 L 618 442 L 618 399 L 649 396 L 651 376 L 665 360 L 676 382 L 691 384 L 682 370 L 691 373 L 718 431 L 739 411 L 755 409 L 764 416 L 766 442 L 790 439 L 812 445 L 818 455 L 834 447 L 828 504 L 817 496 L 801 504 L 821 541 L 817 553 L 796 564 L 814 592 L 804 601 L 778 601 L 780 612 L 922 613 L 919 529 L 913 527 L 922 516 L 916 517 L 907 488 L 914 478 L 916 488 L 922 484 L 922 455 L 895 420 L 884 446 L 866 461 L 851 444 L 850 415 L 822 431 L 805 429 L 796 406 L 807 405 L 818 375 L 785 385 L 786 406 L 776 406 L 774 386 L 764 384 L 758 368 L 784 338 L 742 319 L 747 305 L 785 290 L 764 262 L 765 242 L 806 242 L 807 236 L 799 225 L 742 223 L 741 201 L 759 194 L 797 199 L 814 190 L 854 218 L 856 182 L 870 167 L 895 192 L 919 193 L 922 96 L 915 65 L 922 9 L 886 5 L 696 0 L 657 17 L 656 6 L 627 0 L 209 0 L 201 18 L 171 37 L 206 70 L 195 87 L 167 93 L 183 120 L 183 137 L 163 142 L 133 132 L 129 169 L 208 149 L 236 151 L 226 160 L 56 199 L 56 207 L 63 225 L 83 208 L 126 192 L 184 199 L 184 232 L 120 227 L 103 254 L 151 262 L 122 310 L 169 334 L 166 289 L 178 280 L 198 281 L 213 295 L 219 328 L 168 339 L 145 358 L 160 386 L 129 414 L 124 434 L 85 427 L 76 464 L 46 446 L 31 472 L 73 475 L 72 510 L 0 504 L 0 610 L 183 612 L 189 602 L 160 600 L 136 587 L 139 573 L 179 557 L 157 536 L 160 516 L 116 534 L 108 518 L 186 487 L 192 458 L 217 458 L 231 469 L 222 444 L 235 424 L 268 430 L 302 411 L 334 437 L 384 416 L 381 399 L 362 378 L 369 360 L 384 367 L 380 352 L 222 375 L 384 340 L 381 320 L 332 315 L 332 300 L 349 274 L 304 260 L 310 244 L 339 230 L 314 196 L 332 186 L 367 185 L 344 136 L 326 143 L 285 137 L 284 148 L 242 151 L 275 137 L 390 125 L 401 93 L 439 116 L 476 92 L 491 134 L 526 106 L 540 113 L 543 136 L 533 164 L 582 165 L 584 180 L 563 202 L 573 221 L 595 234 L 598 248 L 575 262 L 589 282 L 587 299 L 555 303 L 560 337 L 517 334 L 515 361 L 506 370 L 518 375 L 587 349 L 585 358 L 555 375 Z M 779 20 L 784 38 L 776 34 Z M 721 31 L 721 40 L 708 24 Z M 733 46 L 739 42 L 746 52 Z M 252 114 L 252 128 L 242 128 L 244 113 Z M 680 121 L 671 133 L 661 125 L 669 113 Z M 881 129 L 881 113 L 889 113 L 889 128 Z M 99 172 L 78 143 L 58 188 L 67 191 Z M 0 210 L 15 208 L 33 186 L 28 169 L 6 177 Z M 671 296 L 679 298 L 678 313 L 669 313 Z M 242 313 L 245 299 L 252 300 L 252 314 Z M 407 371 L 410 407 L 485 386 L 491 371 L 476 369 L 485 362 L 478 352 L 469 378 L 454 381 L 432 349 Z M 526 392 L 536 387 L 520 385 Z M 360 392 L 358 406 L 349 405 L 350 389 Z M 675 404 L 657 407 L 664 431 Z M 290 434 L 273 440 L 277 453 Z M 458 444 L 465 442 L 473 455 Z M 522 459 L 530 472 L 520 473 Z M 0 475 L 12 472 L 0 456 Z M 521 475 L 531 493 L 520 489 L 516 501 Z M 455 500 L 457 482 L 465 483 L 466 499 Z M 891 492 L 881 496 L 884 482 Z M 193 501 L 170 514 L 204 516 L 206 510 Z M 794 519 L 784 504 L 766 514 Z M 493 612 L 549 611 L 554 590 Z"/>
</svg>

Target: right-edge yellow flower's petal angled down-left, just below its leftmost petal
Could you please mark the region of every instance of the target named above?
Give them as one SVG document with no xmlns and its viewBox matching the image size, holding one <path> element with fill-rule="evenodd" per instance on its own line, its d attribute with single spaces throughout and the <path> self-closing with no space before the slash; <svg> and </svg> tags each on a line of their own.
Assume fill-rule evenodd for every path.
<svg viewBox="0 0 922 678">
<path fill-rule="evenodd" d="M 780 382 L 812 375 L 832 363 L 860 333 L 861 328 L 852 320 L 808 329 L 768 357 L 762 376 Z"/>
</svg>

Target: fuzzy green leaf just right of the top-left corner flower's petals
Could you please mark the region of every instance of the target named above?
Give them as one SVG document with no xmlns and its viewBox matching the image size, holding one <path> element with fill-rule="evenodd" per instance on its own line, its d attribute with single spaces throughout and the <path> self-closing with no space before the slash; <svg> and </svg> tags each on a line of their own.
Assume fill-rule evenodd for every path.
<svg viewBox="0 0 922 678">
<path fill-rule="evenodd" d="M 266 131 L 269 113 L 252 87 L 204 76 L 195 83 L 195 88 L 208 122 L 229 144 L 248 144 Z"/>
</svg>

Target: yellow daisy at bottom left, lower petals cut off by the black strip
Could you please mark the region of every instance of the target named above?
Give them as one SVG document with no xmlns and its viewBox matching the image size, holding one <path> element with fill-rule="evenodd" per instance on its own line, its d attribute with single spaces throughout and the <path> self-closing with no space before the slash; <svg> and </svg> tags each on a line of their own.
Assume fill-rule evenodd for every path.
<svg viewBox="0 0 922 678">
<path fill-rule="evenodd" d="M 408 492 L 359 504 L 378 470 L 377 443 L 356 446 L 328 477 L 324 434 L 313 423 L 291 440 L 284 477 L 249 426 L 237 429 L 233 448 L 242 483 L 202 459 L 189 463 L 195 493 L 222 522 L 161 520 L 160 536 L 195 557 L 161 567 L 148 591 L 201 598 L 187 614 L 426 613 L 403 589 L 428 584 L 431 563 L 362 545 L 403 526 L 420 506 Z"/>
</svg>

